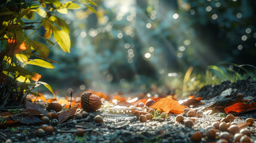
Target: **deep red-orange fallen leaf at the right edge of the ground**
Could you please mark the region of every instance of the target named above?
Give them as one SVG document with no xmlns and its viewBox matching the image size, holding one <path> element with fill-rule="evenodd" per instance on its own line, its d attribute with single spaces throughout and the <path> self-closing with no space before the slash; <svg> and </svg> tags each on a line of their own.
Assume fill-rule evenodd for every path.
<svg viewBox="0 0 256 143">
<path fill-rule="evenodd" d="M 245 104 L 243 102 L 238 102 L 236 104 L 230 105 L 226 107 L 224 110 L 226 113 L 239 113 L 242 111 L 248 111 L 256 108 L 256 102 L 252 102 L 252 104 Z"/>
</svg>

